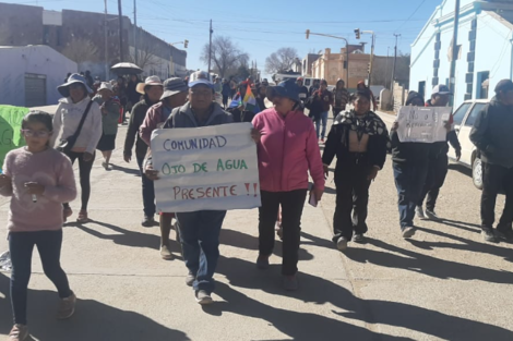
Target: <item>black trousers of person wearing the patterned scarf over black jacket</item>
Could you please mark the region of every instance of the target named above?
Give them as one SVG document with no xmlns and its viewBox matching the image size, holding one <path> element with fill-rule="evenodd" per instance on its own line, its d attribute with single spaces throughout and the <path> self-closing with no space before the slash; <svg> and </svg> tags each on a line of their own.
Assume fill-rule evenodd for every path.
<svg viewBox="0 0 513 341">
<path fill-rule="evenodd" d="M 348 241 L 353 232 L 363 234 L 367 228 L 369 204 L 368 180 L 370 167 L 366 159 L 345 162 L 335 170 L 336 207 L 333 216 L 333 242 L 344 236 Z"/>
</svg>

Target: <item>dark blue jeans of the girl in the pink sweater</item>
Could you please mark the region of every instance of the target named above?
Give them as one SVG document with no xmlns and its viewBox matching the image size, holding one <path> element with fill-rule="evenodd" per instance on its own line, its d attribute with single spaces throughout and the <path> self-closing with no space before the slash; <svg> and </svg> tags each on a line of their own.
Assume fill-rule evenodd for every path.
<svg viewBox="0 0 513 341">
<path fill-rule="evenodd" d="M 11 305 L 14 324 L 26 325 L 26 297 L 34 246 L 37 246 L 45 275 L 57 287 L 59 297 L 65 299 L 71 295 L 68 277 L 60 267 L 61 245 L 62 230 L 9 233 L 12 261 Z"/>
</svg>

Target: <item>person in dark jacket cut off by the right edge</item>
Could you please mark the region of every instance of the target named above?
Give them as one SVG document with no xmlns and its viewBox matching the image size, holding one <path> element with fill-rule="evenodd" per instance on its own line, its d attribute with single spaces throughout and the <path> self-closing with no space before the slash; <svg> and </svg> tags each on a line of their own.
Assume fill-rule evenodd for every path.
<svg viewBox="0 0 513 341">
<path fill-rule="evenodd" d="M 474 123 L 470 141 L 482 160 L 481 229 L 488 242 L 493 233 L 496 199 L 499 190 L 505 191 L 505 205 L 497 226 L 497 235 L 513 240 L 513 82 L 502 80 L 493 97 Z"/>
</svg>

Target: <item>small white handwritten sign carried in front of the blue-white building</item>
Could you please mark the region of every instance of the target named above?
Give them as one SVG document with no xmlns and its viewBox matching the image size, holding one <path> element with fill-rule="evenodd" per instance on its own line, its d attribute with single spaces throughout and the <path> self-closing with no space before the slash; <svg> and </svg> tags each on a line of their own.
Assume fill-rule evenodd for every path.
<svg viewBox="0 0 513 341">
<path fill-rule="evenodd" d="M 452 108 L 402 107 L 397 114 L 397 136 L 401 142 L 433 143 L 446 141 L 445 123 Z"/>
</svg>

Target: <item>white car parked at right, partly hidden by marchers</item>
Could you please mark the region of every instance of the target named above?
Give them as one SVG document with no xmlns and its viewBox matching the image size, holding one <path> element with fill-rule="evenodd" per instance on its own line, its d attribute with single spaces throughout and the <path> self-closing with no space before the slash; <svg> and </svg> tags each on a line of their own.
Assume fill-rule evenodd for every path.
<svg viewBox="0 0 513 341">
<path fill-rule="evenodd" d="M 488 99 L 474 99 L 464 101 L 456 111 L 454 111 L 454 130 L 462 145 L 462 158 L 460 163 L 472 169 L 472 179 L 474 185 L 482 190 L 482 170 L 479 150 L 470 141 L 470 131 L 476 122 L 479 111 L 488 103 Z M 449 157 L 456 160 L 456 153 L 453 148 L 449 151 Z"/>
</svg>

